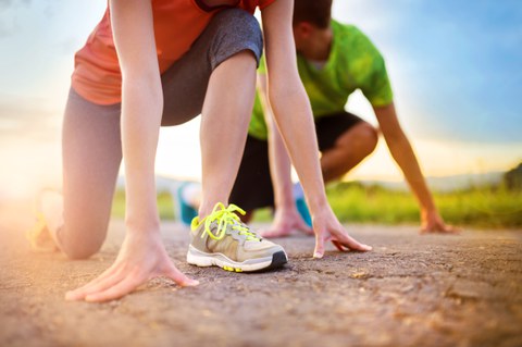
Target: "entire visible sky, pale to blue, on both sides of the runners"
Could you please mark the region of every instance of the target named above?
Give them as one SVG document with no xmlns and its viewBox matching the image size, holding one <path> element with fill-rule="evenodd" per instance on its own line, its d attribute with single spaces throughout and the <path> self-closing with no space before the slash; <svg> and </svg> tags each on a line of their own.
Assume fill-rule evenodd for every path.
<svg viewBox="0 0 522 347">
<path fill-rule="evenodd" d="M 74 52 L 105 5 L 0 0 L 0 161 L 34 171 L 40 157 L 59 171 Z M 522 160 L 522 1 L 334 0 L 333 16 L 358 25 L 386 58 L 399 117 L 427 175 L 507 170 Z M 360 94 L 348 108 L 374 122 Z M 162 131 L 160 173 L 198 177 L 198 126 Z M 368 176 L 400 178 L 383 141 L 353 173 Z"/>
</svg>

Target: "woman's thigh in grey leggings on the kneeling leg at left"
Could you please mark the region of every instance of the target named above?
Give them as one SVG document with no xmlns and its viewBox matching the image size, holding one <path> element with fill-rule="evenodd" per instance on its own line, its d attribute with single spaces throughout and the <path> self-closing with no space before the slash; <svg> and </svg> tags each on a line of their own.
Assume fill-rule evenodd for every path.
<svg viewBox="0 0 522 347">
<path fill-rule="evenodd" d="M 64 251 L 96 248 L 105 237 L 122 147 L 120 104 L 98 106 L 71 89 L 63 120 Z"/>
</svg>

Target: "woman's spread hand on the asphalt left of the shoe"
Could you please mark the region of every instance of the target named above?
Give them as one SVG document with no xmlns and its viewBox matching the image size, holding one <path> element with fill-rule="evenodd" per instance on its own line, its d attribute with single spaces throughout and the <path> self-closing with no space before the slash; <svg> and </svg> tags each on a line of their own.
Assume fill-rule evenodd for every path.
<svg viewBox="0 0 522 347">
<path fill-rule="evenodd" d="M 181 286 L 195 286 L 191 280 L 174 267 L 161 235 L 128 233 L 116 261 L 97 278 L 75 290 L 67 292 L 66 300 L 108 301 L 119 299 L 147 281 L 166 276 Z"/>
</svg>

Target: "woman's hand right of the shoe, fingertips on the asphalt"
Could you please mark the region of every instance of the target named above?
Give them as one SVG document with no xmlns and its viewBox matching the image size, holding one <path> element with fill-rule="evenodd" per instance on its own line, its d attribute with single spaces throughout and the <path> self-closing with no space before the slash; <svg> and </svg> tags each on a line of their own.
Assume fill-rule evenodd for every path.
<svg viewBox="0 0 522 347">
<path fill-rule="evenodd" d="M 328 207 L 319 214 L 312 215 L 313 231 L 315 233 L 315 250 L 313 258 L 323 258 L 324 243 L 332 241 L 339 250 L 369 251 L 372 247 L 361 244 L 349 236 L 345 227 Z"/>
</svg>

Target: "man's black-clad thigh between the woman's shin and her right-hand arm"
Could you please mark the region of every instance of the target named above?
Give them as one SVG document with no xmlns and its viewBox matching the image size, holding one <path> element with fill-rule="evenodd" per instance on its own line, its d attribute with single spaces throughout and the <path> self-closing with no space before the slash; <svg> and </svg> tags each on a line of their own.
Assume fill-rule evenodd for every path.
<svg viewBox="0 0 522 347">
<path fill-rule="evenodd" d="M 248 136 L 229 202 L 246 211 L 274 205 L 268 141 Z"/>
</svg>

